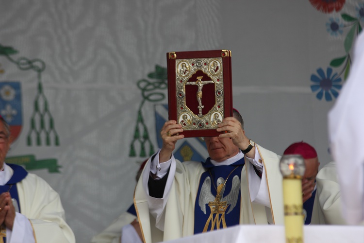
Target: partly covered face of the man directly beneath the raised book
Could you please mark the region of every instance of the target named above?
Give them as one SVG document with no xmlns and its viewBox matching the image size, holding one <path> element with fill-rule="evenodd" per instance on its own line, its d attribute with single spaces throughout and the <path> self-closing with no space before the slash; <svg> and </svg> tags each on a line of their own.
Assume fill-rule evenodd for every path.
<svg viewBox="0 0 364 243">
<path fill-rule="evenodd" d="M 221 162 L 239 153 L 239 148 L 232 143 L 232 139 L 205 137 L 207 151 L 211 159 Z"/>
</svg>

